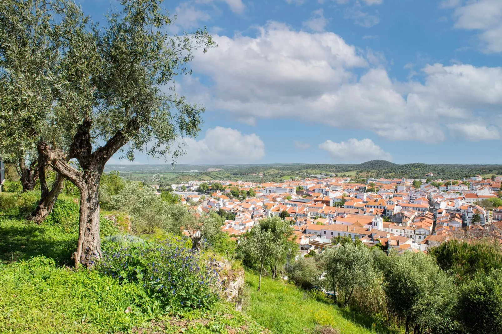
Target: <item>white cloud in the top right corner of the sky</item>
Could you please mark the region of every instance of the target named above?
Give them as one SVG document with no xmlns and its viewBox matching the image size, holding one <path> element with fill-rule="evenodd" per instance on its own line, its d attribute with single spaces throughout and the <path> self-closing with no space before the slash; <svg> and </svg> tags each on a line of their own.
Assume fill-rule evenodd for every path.
<svg viewBox="0 0 502 334">
<path fill-rule="evenodd" d="M 450 0 L 442 4 L 455 8 L 455 28 L 479 31 L 483 52 L 502 52 L 502 1 L 477 0 L 462 6 L 460 1 Z"/>
</svg>

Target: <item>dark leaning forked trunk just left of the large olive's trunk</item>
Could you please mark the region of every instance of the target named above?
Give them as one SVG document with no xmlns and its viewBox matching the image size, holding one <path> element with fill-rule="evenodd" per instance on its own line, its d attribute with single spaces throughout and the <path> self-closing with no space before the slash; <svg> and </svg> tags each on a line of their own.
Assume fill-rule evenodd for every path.
<svg viewBox="0 0 502 334">
<path fill-rule="evenodd" d="M 39 150 L 38 157 L 38 175 L 40 180 L 40 201 L 37 208 L 32 212 L 31 216 L 28 218 L 37 224 L 41 224 L 47 216 L 52 212 L 54 208 L 54 203 L 58 199 L 59 194 L 63 190 L 64 178 L 60 173 L 56 172 L 56 180 L 52 185 L 52 189 L 49 191 L 47 187 L 47 180 L 45 178 L 45 170 L 47 168 L 47 159 L 44 157 L 42 151 Z"/>
</svg>

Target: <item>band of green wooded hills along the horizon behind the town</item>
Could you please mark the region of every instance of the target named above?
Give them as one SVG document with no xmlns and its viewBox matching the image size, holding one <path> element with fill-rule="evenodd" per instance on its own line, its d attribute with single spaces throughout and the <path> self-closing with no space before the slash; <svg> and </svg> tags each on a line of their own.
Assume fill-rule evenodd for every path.
<svg viewBox="0 0 502 334">
<path fill-rule="evenodd" d="M 242 180 L 273 182 L 312 175 L 336 175 L 351 178 L 425 178 L 462 179 L 475 175 L 502 175 L 500 164 L 397 164 L 386 160 L 371 160 L 359 164 L 267 163 L 191 165 L 135 164 L 106 165 L 105 172 L 119 171 L 132 180 L 173 184 L 191 180 Z"/>
</svg>

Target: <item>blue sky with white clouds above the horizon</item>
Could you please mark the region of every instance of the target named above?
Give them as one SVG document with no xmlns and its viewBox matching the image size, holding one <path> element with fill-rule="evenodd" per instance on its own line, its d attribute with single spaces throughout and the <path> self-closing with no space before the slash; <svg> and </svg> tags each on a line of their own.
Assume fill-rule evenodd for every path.
<svg viewBox="0 0 502 334">
<path fill-rule="evenodd" d="M 102 21 L 115 3 L 81 5 Z M 205 25 L 218 44 L 177 81 L 206 107 L 179 163 L 502 163 L 500 0 L 165 6 L 173 33 Z"/>
</svg>

